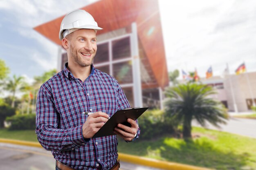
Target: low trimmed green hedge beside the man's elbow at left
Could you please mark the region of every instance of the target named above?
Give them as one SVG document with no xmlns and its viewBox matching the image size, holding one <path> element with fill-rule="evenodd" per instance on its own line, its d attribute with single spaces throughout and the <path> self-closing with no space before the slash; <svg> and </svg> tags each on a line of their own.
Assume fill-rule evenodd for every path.
<svg viewBox="0 0 256 170">
<path fill-rule="evenodd" d="M 11 123 L 10 130 L 34 130 L 36 128 L 36 114 L 14 115 L 6 118 Z"/>
</svg>

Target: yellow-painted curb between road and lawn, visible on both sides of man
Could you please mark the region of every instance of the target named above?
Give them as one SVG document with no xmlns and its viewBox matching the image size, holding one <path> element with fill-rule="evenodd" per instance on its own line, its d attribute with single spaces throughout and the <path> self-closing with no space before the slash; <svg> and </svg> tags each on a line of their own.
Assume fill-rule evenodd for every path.
<svg viewBox="0 0 256 170">
<path fill-rule="evenodd" d="M 43 148 L 38 142 L 19 141 L 19 140 L 1 139 L 1 138 L 0 138 L 0 142 L 8 143 L 8 144 L 16 144 L 16 145 Z M 124 162 L 139 164 L 139 165 L 143 165 L 143 166 L 159 168 L 159 169 L 164 169 L 164 170 L 212 170 L 212 169 L 201 168 L 201 167 L 197 167 L 197 166 L 184 165 L 181 163 L 158 161 L 155 159 L 138 157 L 138 156 L 123 154 L 123 153 L 119 153 L 118 155 L 119 155 L 118 159 L 120 159 L 121 161 L 124 161 Z"/>
</svg>

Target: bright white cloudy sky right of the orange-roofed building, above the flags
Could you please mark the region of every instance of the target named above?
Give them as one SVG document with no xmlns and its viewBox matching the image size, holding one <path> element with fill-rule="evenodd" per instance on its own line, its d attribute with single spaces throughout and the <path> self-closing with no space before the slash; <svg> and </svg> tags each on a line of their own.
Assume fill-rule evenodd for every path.
<svg viewBox="0 0 256 170">
<path fill-rule="evenodd" d="M 159 4 L 169 71 L 197 68 L 204 77 L 211 65 L 213 74 L 220 75 L 226 63 L 234 73 L 243 61 L 248 71 L 256 71 L 256 2 L 160 0 Z"/>
</svg>

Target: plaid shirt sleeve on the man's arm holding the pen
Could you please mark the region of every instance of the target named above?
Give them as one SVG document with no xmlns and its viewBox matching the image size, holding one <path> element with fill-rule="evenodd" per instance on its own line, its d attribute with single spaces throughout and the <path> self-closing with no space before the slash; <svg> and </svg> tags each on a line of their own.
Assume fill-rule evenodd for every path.
<svg viewBox="0 0 256 170">
<path fill-rule="evenodd" d="M 36 134 L 43 148 L 51 151 L 70 150 L 90 141 L 83 138 L 82 126 L 60 129 L 59 121 L 52 96 L 41 86 L 36 103 Z"/>
</svg>

